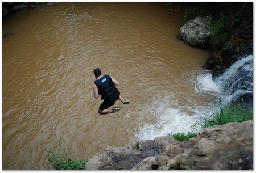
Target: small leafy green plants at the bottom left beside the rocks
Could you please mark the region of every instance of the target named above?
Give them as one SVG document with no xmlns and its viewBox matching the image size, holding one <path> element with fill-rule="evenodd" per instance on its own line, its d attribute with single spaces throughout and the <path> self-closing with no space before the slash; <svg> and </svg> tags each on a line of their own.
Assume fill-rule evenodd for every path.
<svg viewBox="0 0 256 173">
<path fill-rule="evenodd" d="M 47 159 L 49 164 L 56 170 L 81 170 L 85 168 L 85 163 L 89 161 L 89 159 L 79 159 L 75 160 L 71 157 L 70 151 L 71 147 L 69 147 L 68 152 L 63 149 L 64 141 L 59 141 L 59 145 L 56 153 L 53 152 L 52 149 L 47 150 Z"/>
</svg>

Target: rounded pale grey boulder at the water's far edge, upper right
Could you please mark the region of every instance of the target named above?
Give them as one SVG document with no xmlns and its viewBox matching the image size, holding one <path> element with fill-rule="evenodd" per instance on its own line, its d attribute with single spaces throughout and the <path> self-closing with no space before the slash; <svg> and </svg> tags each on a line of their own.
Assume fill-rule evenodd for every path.
<svg viewBox="0 0 256 173">
<path fill-rule="evenodd" d="M 184 40 L 186 44 L 193 47 L 206 49 L 209 46 L 209 39 L 212 31 L 207 25 L 208 17 L 197 16 L 193 20 L 189 20 L 180 28 L 179 39 Z"/>
</svg>

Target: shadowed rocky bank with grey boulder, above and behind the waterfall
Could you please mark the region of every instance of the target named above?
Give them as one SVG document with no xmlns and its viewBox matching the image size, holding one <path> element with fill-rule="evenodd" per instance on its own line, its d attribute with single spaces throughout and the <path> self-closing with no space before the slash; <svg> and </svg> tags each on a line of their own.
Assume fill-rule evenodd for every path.
<svg viewBox="0 0 256 173">
<path fill-rule="evenodd" d="M 212 6 L 213 9 L 216 8 L 218 11 L 218 8 L 225 5 L 224 3 L 214 3 Z M 211 70 L 213 78 L 222 75 L 234 62 L 253 54 L 253 3 L 232 5 L 233 7 L 230 7 L 230 9 L 236 7 L 238 10 L 227 9 L 229 14 L 225 14 L 221 10 L 218 11 L 222 14 L 220 16 L 223 19 L 219 20 L 223 23 L 217 23 L 217 19 L 215 19 L 215 23 L 213 22 L 213 18 L 218 15 L 214 12 L 212 14 L 209 13 L 209 15 L 215 16 L 196 16 L 180 28 L 178 36 L 180 40 L 193 47 L 210 50 L 210 55 L 203 68 Z M 201 6 L 206 9 L 209 8 L 204 5 Z M 224 10 L 226 9 L 224 8 Z M 230 27 L 226 27 L 227 24 L 230 24 Z M 226 29 L 226 33 L 224 34 L 220 28 Z M 241 82 L 237 87 L 234 87 L 232 93 L 251 88 L 246 83 L 249 83 L 249 85 L 252 83 L 252 76 L 241 71 L 237 79 L 240 79 Z M 243 104 L 246 108 L 251 108 L 253 106 L 252 92 L 245 92 L 237 99 L 232 100 L 231 104 L 233 103 Z"/>
</svg>

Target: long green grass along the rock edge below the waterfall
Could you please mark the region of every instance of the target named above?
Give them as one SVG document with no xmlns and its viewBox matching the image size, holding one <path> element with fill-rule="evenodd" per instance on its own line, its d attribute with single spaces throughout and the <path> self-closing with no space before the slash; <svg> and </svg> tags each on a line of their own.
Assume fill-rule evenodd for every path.
<svg viewBox="0 0 256 173">
<path fill-rule="evenodd" d="M 247 110 L 240 105 L 222 105 L 221 100 L 218 103 L 218 109 L 214 109 L 210 116 L 197 119 L 196 123 L 191 125 L 186 133 L 168 134 L 178 141 L 185 141 L 197 136 L 197 133 L 204 128 L 214 125 L 223 125 L 230 122 L 243 122 L 253 119 L 253 110 Z"/>
</svg>

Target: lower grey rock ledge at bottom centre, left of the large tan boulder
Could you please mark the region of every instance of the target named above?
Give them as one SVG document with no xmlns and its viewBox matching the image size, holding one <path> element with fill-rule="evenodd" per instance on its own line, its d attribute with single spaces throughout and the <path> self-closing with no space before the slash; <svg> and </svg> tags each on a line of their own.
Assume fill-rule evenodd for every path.
<svg viewBox="0 0 256 173">
<path fill-rule="evenodd" d="M 131 147 L 107 147 L 94 155 L 85 167 L 86 170 L 130 170 L 143 159 L 154 157 L 163 152 L 165 147 L 178 143 L 171 136 L 163 136 L 137 142 Z"/>
</svg>

